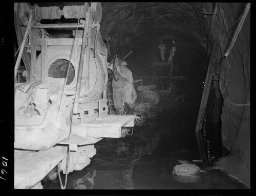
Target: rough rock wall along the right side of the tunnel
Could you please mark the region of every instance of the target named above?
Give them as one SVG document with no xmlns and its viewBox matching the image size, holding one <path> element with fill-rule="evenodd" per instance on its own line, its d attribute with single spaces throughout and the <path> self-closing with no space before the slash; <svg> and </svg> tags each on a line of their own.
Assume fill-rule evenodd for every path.
<svg viewBox="0 0 256 196">
<path fill-rule="evenodd" d="M 216 68 L 221 65 L 245 7 L 246 4 L 239 3 L 219 5 L 220 15 L 212 28 L 212 39 L 220 46 L 215 58 Z M 223 99 L 222 144 L 236 156 L 235 175 L 250 186 L 250 12 L 219 72 L 215 91 L 216 97 L 221 94 Z"/>
</svg>

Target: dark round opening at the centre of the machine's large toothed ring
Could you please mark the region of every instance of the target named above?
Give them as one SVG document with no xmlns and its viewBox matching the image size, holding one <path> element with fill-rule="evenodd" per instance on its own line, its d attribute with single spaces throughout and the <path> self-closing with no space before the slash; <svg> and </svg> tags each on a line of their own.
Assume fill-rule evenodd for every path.
<svg viewBox="0 0 256 196">
<path fill-rule="evenodd" d="M 48 70 L 48 76 L 51 78 L 66 78 L 69 63 L 70 62 L 66 59 L 58 59 L 54 61 Z M 74 77 L 75 68 L 72 63 L 70 63 L 69 75 L 66 84 L 69 85 L 74 80 Z"/>
</svg>

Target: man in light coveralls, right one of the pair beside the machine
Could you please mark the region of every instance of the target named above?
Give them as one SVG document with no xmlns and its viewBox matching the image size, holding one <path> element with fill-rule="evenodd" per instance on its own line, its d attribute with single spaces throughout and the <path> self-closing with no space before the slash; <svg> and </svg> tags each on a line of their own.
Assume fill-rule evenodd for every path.
<svg viewBox="0 0 256 196">
<path fill-rule="evenodd" d="M 127 78 L 124 83 L 124 102 L 128 106 L 126 114 L 134 114 L 134 102 L 137 99 L 137 93 L 134 88 L 133 74 L 132 71 L 127 67 L 127 62 L 123 61 L 122 66 L 127 70 Z"/>
</svg>

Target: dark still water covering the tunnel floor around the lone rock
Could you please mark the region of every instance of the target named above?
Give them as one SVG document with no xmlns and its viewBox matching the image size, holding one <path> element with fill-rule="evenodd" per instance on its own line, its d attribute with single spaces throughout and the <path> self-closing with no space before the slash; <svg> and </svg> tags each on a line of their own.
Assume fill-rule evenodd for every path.
<svg viewBox="0 0 256 196">
<path fill-rule="evenodd" d="M 244 184 L 200 160 L 193 105 L 162 111 L 155 119 L 133 128 L 133 135 L 104 138 L 97 153 L 81 171 L 68 175 L 66 189 L 245 189 Z M 129 132 L 131 133 L 131 132 Z M 173 168 L 189 161 L 205 171 L 193 177 L 173 175 Z M 62 183 L 65 175 L 61 175 Z M 60 189 L 59 179 L 43 184 Z"/>
</svg>

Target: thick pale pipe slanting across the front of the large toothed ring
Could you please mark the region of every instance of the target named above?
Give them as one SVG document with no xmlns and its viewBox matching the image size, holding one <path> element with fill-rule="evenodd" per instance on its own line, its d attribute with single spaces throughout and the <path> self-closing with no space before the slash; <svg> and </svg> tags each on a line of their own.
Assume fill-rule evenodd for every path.
<svg viewBox="0 0 256 196">
<path fill-rule="evenodd" d="M 75 94 L 73 113 L 77 112 L 77 106 L 78 106 L 78 101 L 79 101 L 79 96 L 80 96 L 80 89 L 81 89 L 81 82 L 82 82 L 82 68 L 83 68 L 84 54 L 86 52 L 86 40 L 87 40 L 87 28 L 84 28 L 83 38 L 82 38 L 81 55 L 80 55 L 78 74 L 77 74 L 76 94 Z"/>
</svg>

